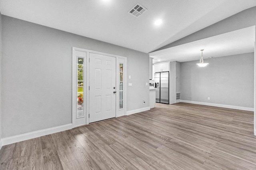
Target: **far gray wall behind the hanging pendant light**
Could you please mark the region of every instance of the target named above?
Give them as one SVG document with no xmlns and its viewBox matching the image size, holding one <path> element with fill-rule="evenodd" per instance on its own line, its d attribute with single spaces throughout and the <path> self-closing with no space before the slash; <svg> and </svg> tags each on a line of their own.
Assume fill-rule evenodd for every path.
<svg viewBox="0 0 256 170">
<path fill-rule="evenodd" d="M 254 53 L 204 61 L 181 63 L 181 100 L 254 107 Z"/>
</svg>

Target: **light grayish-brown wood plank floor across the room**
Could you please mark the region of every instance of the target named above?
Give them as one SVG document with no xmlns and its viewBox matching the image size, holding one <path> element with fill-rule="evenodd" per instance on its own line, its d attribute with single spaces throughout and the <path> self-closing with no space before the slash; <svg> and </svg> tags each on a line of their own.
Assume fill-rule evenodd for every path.
<svg viewBox="0 0 256 170">
<path fill-rule="evenodd" d="M 253 112 L 154 109 L 2 147 L 0 169 L 256 169 Z"/>
</svg>

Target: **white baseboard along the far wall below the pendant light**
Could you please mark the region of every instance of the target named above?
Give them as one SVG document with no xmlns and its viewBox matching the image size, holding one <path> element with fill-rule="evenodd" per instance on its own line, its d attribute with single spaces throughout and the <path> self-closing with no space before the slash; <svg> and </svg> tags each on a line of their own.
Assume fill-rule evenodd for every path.
<svg viewBox="0 0 256 170">
<path fill-rule="evenodd" d="M 189 100 L 180 100 L 180 102 L 191 103 L 191 104 L 200 104 L 200 105 L 206 105 L 206 106 L 224 107 L 224 108 L 229 108 L 229 109 L 254 111 L 254 108 L 251 108 L 251 107 L 231 106 L 231 105 L 206 103 L 206 102 L 194 102 L 194 101 L 189 101 Z"/>
</svg>

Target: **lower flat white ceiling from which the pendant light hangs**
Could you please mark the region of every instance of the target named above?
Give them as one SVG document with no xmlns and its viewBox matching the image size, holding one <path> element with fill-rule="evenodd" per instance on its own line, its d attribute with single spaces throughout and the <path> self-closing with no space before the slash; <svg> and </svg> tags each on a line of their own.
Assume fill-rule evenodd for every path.
<svg viewBox="0 0 256 170">
<path fill-rule="evenodd" d="M 193 41 L 150 53 L 153 63 L 164 61 L 194 61 L 200 60 L 200 49 L 204 49 L 204 59 L 208 57 L 223 57 L 228 55 L 254 52 L 255 26 L 239 29 L 229 33 L 216 35 L 206 39 Z"/>
</svg>

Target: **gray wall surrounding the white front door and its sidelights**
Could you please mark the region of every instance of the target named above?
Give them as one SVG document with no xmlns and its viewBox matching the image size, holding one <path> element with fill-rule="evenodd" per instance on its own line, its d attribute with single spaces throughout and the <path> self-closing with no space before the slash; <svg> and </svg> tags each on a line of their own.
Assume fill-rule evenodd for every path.
<svg viewBox="0 0 256 170">
<path fill-rule="evenodd" d="M 2 32 L 2 138 L 72 123 L 72 47 L 127 57 L 127 111 L 149 107 L 148 54 L 8 16 Z"/>
</svg>

